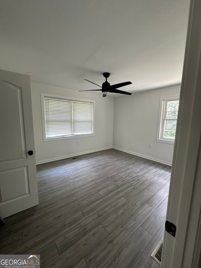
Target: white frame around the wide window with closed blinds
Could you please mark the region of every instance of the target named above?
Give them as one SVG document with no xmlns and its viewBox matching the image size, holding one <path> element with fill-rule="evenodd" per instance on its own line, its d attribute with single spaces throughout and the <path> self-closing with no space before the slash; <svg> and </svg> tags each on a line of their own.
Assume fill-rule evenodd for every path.
<svg viewBox="0 0 201 268">
<path fill-rule="evenodd" d="M 83 102 L 93 103 L 93 134 L 68 135 L 68 136 L 55 137 L 55 138 L 46 138 L 44 97 L 51 97 L 51 98 L 57 98 L 57 99 L 59 98 L 59 99 L 65 99 L 65 100 L 70 100 L 70 101 L 83 101 Z M 42 114 L 43 141 L 54 141 L 54 140 L 62 140 L 62 139 L 74 139 L 74 138 L 84 138 L 84 137 L 95 136 L 95 101 L 94 100 L 85 100 L 85 99 L 78 99 L 78 98 L 72 98 L 72 97 L 67 97 L 67 96 L 53 95 L 53 94 L 49 94 L 49 93 L 41 93 L 41 114 Z"/>
</svg>

